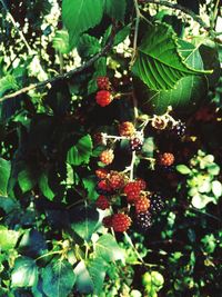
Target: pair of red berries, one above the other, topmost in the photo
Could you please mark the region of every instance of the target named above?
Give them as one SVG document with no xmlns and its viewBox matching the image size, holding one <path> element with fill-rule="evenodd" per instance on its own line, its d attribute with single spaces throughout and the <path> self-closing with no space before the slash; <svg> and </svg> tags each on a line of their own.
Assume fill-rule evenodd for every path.
<svg viewBox="0 0 222 297">
<path fill-rule="evenodd" d="M 97 78 L 97 86 L 99 91 L 95 95 L 95 101 L 99 106 L 105 107 L 109 106 L 113 97 L 110 92 L 111 90 L 111 83 L 108 77 L 98 77 Z"/>
</svg>

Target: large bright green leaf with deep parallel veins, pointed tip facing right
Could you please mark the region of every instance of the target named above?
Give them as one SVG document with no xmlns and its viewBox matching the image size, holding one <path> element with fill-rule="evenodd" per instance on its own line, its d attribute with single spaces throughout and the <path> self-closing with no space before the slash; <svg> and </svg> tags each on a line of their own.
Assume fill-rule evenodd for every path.
<svg viewBox="0 0 222 297">
<path fill-rule="evenodd" d="M 157 91 L 173 89 L 176 81 L 185 76 L 208 72 L 186 65 L 178 48 L 176 37 L 171 27 L 149 27 L 139 47 L 132 71 L 149 89 Z"/>
</svg>

